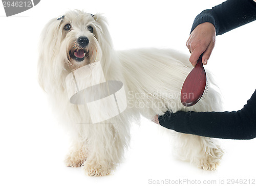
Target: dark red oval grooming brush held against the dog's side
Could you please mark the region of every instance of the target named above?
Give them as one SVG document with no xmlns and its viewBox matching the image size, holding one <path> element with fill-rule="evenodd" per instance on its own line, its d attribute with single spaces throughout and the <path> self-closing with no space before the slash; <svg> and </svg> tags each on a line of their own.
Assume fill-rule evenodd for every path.
<svg viewBox="0 0 256 186">
<path fill-rule="evenodd" d="M 183 83 L 180 100 L 185 107 L 191 107 L 201 99 L 207 90 L 208 84 L 201 55 Z"/>
</svg>

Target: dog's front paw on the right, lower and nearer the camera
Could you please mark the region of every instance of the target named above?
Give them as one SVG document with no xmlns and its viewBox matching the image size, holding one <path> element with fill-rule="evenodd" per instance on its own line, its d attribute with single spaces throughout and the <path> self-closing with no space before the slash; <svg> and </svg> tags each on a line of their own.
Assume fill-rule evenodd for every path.
<svg viewBox="0 0 256 186">
<path fill-rule="evenodd" d="M 113 171 L 113 168 L 109 166 L 104 167 L 95 161 L 88 160 L 82 165 L 82 169 L 87 176 L 106 176 Z"/>
</svg>

